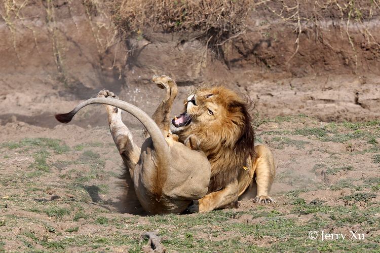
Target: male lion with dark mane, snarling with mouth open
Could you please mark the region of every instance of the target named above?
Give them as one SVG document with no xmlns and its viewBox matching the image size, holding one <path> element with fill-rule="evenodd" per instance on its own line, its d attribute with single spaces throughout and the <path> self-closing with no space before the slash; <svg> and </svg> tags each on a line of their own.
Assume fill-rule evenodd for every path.
<svg viewBox="0 0 380 253">
<path fill-rule="evenodd" d="M 274 202 L 268 195 L 276 174 L 273 155 L 263 145 L 254 146 L 248 107 L 232 90 L 199 88 L 185 100 L 184 112 L 172 120 L 171 130 L 179 141 L 195 136 L 211 164 L 208 194 L 190 211 L 210 211 L 239 198 Z"/>
</svg>

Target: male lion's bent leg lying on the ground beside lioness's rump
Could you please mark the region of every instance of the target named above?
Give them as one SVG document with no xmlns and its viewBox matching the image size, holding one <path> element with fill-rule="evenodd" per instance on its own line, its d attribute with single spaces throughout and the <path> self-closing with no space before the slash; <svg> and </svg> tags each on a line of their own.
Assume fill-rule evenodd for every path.
<svg viewBox="0 0 380 253">
<path fill-rule="evenodd" d="M 238 201 L 238 180 L 228 184 L 225 188 L 212 192 L 198 200 L 198 205 L 190 207 L 191 211 L 212 211 Z"/>
</svg>

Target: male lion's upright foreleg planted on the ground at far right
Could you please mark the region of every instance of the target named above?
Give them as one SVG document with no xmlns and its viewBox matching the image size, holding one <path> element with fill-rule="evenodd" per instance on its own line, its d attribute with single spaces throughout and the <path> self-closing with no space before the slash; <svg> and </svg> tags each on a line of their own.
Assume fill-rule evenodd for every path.
<svg viewBox="0 0 380 253">
<path fill-rule="evenodd" d="M 271 190 L 276 174 L 272 152 L 263 145 L 257 145 L 255 152 L 257 157 L 252 165 L 255 168 L 254 179 L 257 184 L 257 196 L 254 200 L 256 203 L 262 204 L 274 202 L 269 196 L 269 191 Z"/>
</svg>

